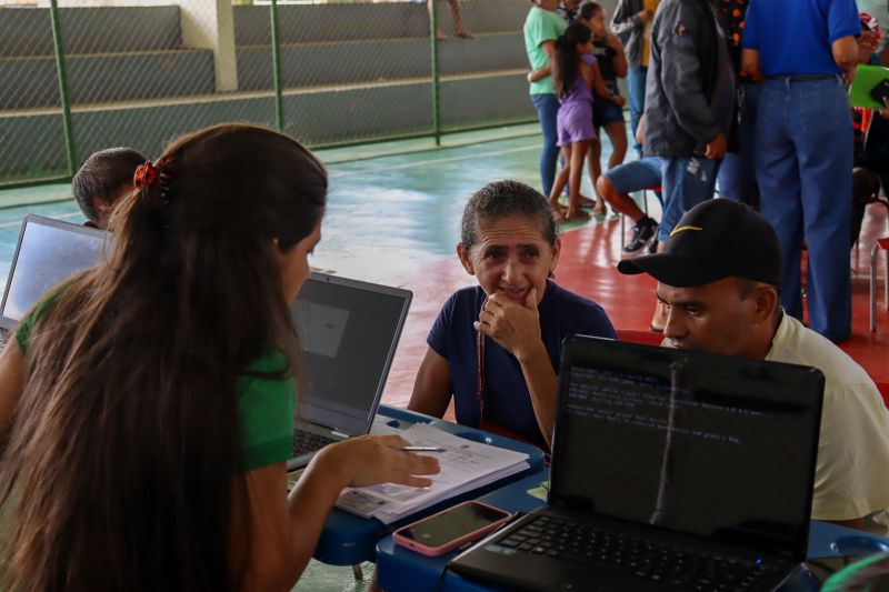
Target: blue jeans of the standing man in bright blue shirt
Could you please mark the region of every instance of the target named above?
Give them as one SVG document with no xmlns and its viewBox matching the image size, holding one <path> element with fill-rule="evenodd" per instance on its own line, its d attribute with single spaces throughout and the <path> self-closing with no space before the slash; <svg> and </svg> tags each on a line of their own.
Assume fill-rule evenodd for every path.
<svg viewBox="0 0 889 592">
<path fill-rule="evenodd" d="M 785 310 L 802 318 L 805 239 L 809 327 L 833 341 L 848 338 L 852 121 L 838 78 L 765 82 L 757 118 L 756 171 L 762 215 L 781 242 Z"/>
</svg>

